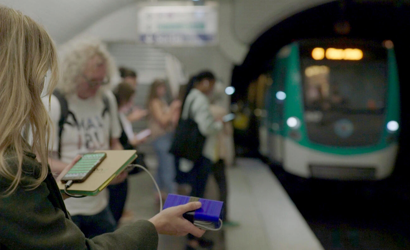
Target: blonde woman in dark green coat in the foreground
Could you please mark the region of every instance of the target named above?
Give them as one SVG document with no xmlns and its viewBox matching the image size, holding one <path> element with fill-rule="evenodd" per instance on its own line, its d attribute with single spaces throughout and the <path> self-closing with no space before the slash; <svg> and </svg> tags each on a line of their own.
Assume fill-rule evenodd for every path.
<svg viewBox="0 0 410 250">
<path fill-rule="evenodd" d="M 46 161 L 51 124 L 41 92 L 48 70 L 49 99 L 58 80 L 54 42 L 31 18 L 0 5 L 0 47 L 0 249 L 157 249 L 158 233 L 204 233 L 182 217 L 200 207 L 188 203 L 86 239 Z M 25 128 L 32 146 L 22 137 Z"/>
</svg>

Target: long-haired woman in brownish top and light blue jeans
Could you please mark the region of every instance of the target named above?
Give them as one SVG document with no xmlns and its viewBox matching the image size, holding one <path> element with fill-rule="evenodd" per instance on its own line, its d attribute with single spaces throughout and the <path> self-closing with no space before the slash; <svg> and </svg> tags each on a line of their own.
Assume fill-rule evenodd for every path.
<svg viewBox="0 0 410 250">
<path fill-rule="evenodd" d="M 173 131 L 178 122 L 181 101 L 175 100 L 170 105 L 165 101 L 166 84 L 162 80 L 155 80 L 150 87 L 147 106 L 150 112 L 148 127 L 151 130 L 153 147 L 157 154 L 158 169 L 156 181 L 159 188 L 164 191 L 162 195 L 176 193 L 174 157 L 169 153 Z M 159 196 L 155 193 L 156 200 Z"/>
</svg>

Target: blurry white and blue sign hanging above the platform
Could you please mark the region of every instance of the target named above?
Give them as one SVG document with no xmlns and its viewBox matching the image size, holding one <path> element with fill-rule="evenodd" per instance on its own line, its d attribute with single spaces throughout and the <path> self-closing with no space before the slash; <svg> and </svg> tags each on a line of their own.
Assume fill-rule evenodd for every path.
<svg viewBox="0 0 410 250">
<path fill-rule="evenodd" d="M 137 18 L 142 43 L 203 46 L 218 42 L 216 5 L 141 7 Z"/>
</svg>

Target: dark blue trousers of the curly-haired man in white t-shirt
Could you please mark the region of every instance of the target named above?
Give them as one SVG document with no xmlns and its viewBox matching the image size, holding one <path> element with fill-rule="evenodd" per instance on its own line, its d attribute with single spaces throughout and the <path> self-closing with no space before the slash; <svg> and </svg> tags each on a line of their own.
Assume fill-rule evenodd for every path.
<svg viewBox="0 0 410 250">
<path fill-rule="evenodd" d="M 86 223 L 84 223 L 86 224 L 84 225 L 86 228 L 84 231 L 87 232 L 87 238 L 93 238 L 100 234 L 114 232 L 116 229 L 114 217 L 108 206 L 98 214 L 83 217 L 86 219 Z"/>
</svg>

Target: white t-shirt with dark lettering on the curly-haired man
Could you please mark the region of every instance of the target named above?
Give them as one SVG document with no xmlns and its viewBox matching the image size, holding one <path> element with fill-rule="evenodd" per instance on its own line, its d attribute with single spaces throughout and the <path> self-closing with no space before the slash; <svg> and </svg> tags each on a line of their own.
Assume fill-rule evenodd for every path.
<svg viewBox="0 0 410 250">
<path fill-rule="evenodd" d="M 76 155 L 93 152 L 94 150 L 110 149 L 110 138 L 121 136 L 121 126 L 118 121 L 118 109 L 115 97 L 111 91 L 104 92 L 109 101 L 109 111 L 104 112 L 103 94 L 80 99 L 77 95 L 68 95 L 68 117 L 63 127 L 61 160 L 69 164 Z M 48 99 L 43 99 L 48 108 Z M 54 141 L 50 143 L 51 151 L 58 151 L 59 126 L 61 116 L 60 103 L 54 95 L 50 101 L 50 117 L 54 125 Z M 84 198 L 68 198 L 64 200 L 68 212 L 72 216 L 98 214 L 108 205 L 108 191 L 104 189 L 97 196 Z"/>
</svg>

